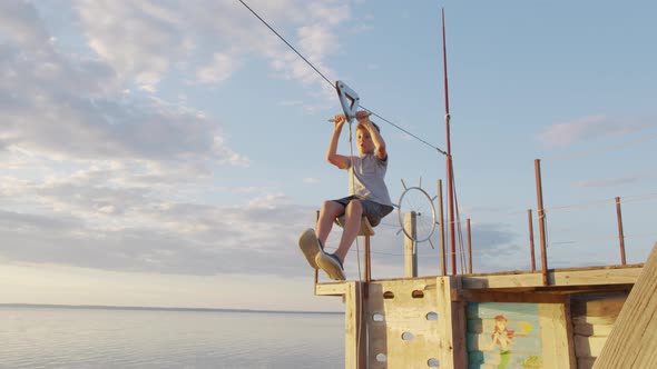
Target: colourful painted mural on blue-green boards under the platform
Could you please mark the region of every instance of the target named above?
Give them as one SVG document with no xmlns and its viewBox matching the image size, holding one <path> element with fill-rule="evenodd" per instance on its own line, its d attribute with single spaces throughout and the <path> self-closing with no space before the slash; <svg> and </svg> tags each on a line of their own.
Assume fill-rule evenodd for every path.
<svg viewBox="0 0 657 369">
<path fill-rule="evenodd" d="M 470 369 L 542 368 L 538 303 L 468 303 Z"/>
</svg>

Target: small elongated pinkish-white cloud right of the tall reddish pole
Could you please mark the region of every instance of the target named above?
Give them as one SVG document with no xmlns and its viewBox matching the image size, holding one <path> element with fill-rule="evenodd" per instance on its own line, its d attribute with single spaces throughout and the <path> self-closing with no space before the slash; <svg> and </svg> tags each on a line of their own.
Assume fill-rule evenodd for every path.
<svg viewBox="0 0 657 369">
<path fill-rule="evenodd" d="M 578 141 L 626 133 L 635 129 L 634 123 L 596 114 L 549 126 L 539 134 L 539 140 L 550 147 L 565 147 Z"/>
</svg>

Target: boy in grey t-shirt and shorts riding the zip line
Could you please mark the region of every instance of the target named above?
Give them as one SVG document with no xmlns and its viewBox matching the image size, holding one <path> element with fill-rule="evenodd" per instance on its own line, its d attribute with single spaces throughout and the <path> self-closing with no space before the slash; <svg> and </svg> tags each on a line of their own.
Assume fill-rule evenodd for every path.
<svg viewBox="0 0 657 369">
<path fill-rule="evenodd" d="M 392 201 L 385 187 L 388 151 L 379 126 L 370 120 L 365 111 L 356 112 L 356 142 L 360 157 L 342 156 L 336 152 L 342 127 L 346 121 L 343 114 L 335 116 L 333 136 L 326 150 L 326 160 L 340 169 L 349 171 L 349 193 L 346 198 L 324 201 L 317 219 L 317 233 L 306 229 L 298 239 L 298 246 L 311 267 L 321 268 L 334 280 L 345 280 L 342 263 L 356 239 L 361 218 L 375 227 L 392 211 Z M 345 217 L 344 230 L 337 250 L 324 252 L 324 245 L 337 217 Z"/>
</svg>

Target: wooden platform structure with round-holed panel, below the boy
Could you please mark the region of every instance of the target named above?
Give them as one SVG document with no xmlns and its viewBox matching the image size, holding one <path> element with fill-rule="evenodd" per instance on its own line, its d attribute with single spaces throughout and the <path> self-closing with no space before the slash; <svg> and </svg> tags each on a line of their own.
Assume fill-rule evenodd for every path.
<svg viewBox="0 0 657 369">
<path fill-rule="evenodd" d="M 500 309 L 493 313 L 520 323 L 521 317 L 513 311 L 529 307 L 538 350 L 532 355 L 542 360 L 542 367 L 587 369 L 606 336 L 590 337 L 586 331 L 604 329 L 608 335 L 618 315 L 618 310 L 610 312 L 608 326 L 591 325 L 587 315 L 594 312 L 587 309 L 607 306 L 618 296 L 620 309 L 643 268 L 553 269 L 548 270 L 548 286 L 540 271 L 511 271 L 326 282 L 316 283 L 314 292 L 340 296 L 345 302 L 345 368 L 465 368 L 499 355 L 490 339 L 491 311 Z M 571 301 L 598 295 L 602 298 L 575 305 L 584 316 L 573 322 Z"/>
</svg>

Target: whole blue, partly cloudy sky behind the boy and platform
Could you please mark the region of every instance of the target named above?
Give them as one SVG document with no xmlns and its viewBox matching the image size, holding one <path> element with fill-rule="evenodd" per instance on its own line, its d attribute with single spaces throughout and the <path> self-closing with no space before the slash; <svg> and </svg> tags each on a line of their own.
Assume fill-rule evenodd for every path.
<svg viewBox="0 0 657 369">
<path fill-rule="evenodd" d="M 447 197 L 441 8 L 459 272 L 467 219 L 474 272 L 529 270 L 530 209 L 540 266 L 537 159 L 550 268 L 620 263 L 616 197 L 627 262 L 649 255 L 655 3 L 245 3 L 316 70 L 238 0 L 0 1 L 0 303 L 342 311 L 297 248 L 347 190 L 325 161 L 336 80 L 375 114 L 401 205 L 372 277 L 403 277 L 400 210 L 428 202 L 406 189 Z"/>
</svg>

